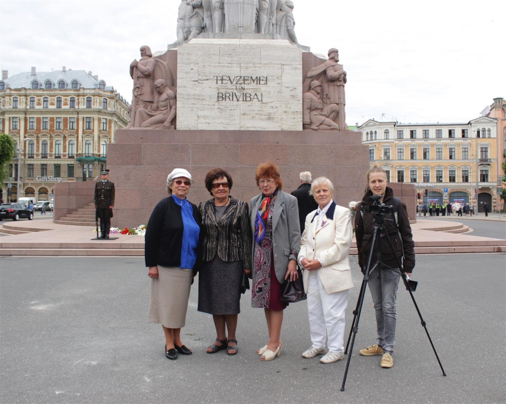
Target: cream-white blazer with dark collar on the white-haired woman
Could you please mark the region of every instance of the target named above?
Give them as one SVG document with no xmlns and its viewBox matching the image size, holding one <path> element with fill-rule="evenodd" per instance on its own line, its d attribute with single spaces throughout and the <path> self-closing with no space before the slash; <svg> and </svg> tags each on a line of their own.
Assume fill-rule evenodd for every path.
<svg viewBox="0 0 506 404">
<path fill-rule="evenodd" d="M 308 259 L 320 258 L 323 266 L 317 270 L 321 283 L 327 293 L 340 292 L 353 288 L 350 251 L 353 231 L 351 211 L 343 206 L 332 204 L 326 218 L 317 227 L 317 210 L 306 216 L 306 228 L 302 235 L 300 256 Z M 304 290 L 308 290 L 309 271 L 304 271 Z"/>
</svg>

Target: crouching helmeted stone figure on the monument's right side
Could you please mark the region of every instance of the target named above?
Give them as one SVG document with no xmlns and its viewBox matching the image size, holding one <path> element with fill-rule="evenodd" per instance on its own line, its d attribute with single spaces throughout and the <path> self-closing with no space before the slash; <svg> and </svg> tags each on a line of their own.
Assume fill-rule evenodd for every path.
<svg viewBox="0 0 506 404">
<path fill-rule="evenodd" d="M 339 130 L 334 122 L 339 107 L 336 104 L 324 105 L 321 100 L 322 85 L 318 80 L 311 81 L 309 91 L 304 94 L 302 102 L 302 124 L 304 129 Z"/>
</svg>

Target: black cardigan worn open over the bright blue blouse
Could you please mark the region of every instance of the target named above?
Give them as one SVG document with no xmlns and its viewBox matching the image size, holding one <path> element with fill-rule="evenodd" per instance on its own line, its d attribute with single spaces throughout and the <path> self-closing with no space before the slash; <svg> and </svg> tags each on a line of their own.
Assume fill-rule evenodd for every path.
<svg viewBox="0 0 506 404">
<path fill-rule="evenodd" d="M 202 219 L 196 205 L 191 203 L 193 218 L 200 227 L 197 247 L 197 261 L 193 267 L 196 273 L 201 261 Z M 181 206 L 172 196 L 162 199 L 153 209 L 145 234 L 144 259 L 146 266 L 181 265 L 181 248 L 183 245 L 183 217 Z"/>
</svg>

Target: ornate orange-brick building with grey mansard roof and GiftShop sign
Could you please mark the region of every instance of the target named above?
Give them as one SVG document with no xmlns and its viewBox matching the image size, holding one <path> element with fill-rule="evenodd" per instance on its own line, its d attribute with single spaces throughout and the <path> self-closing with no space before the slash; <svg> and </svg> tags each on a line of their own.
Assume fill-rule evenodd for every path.
<svg viewBox="0 0 506 404">
<path fill-rule="evenodd" d="M 106 166 L 114 133 L 129 122 L 129 105 L 112 86 L 92 72 L 65 67 L 42 73 L 32 67 L 12 77 L 3 71 L 0 103 L 0 132 L 16 147 L 13 201 L 49 200 L 58 182 L 94 179 Z"/>
</svg>

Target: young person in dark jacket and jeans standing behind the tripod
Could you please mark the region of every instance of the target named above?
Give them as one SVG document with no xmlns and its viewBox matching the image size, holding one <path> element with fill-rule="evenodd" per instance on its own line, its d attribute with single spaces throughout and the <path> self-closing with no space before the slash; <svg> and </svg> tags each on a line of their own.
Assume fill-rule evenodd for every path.
<svg viewBox="0 0 506 404">
<path fill-rule="evenodd" d="M 394 366 L 392 354 L 395 343 L 395 302 L 401 277 L 401 270 L 397 262 L 399 260 L 403 263 L 403 272 L 408 276 L 411 276 L 415 265 L 414 242 L 406 205 L 394 198 L 394 193 L 391 188 L 387 187 L 387 184 L 387 173 L 383 168 L 374 166 L 369 169 L 367 171 L 369 190 L 360 202 L 360 207 L 357 209 L 359 213 L 355 216 L 358 264 L 362 273 L 365 274 L 367 269 L 367 259 L 371 248 L 373 249 L 371 265 L 375 262 L 373 260 L 376 257 L 376 246 L 371 245 L 375 214 L 379 213 L 385 216 L 384 226 L 395 250 L 394 255 L 388 240 L 378 234 L 377 237 L 381 238 L 382 266 L 374 268 L 369 274 L 367 282 L 376 312 L 377 339 L 375 344 L 361 349 L 360 354 L 364 356 L 382 355 L 382 368 Z M 378 206 L 380 204 L 390 208 Z M 372 211 L 371 206 L 373 206 Z"/>
</svg>

